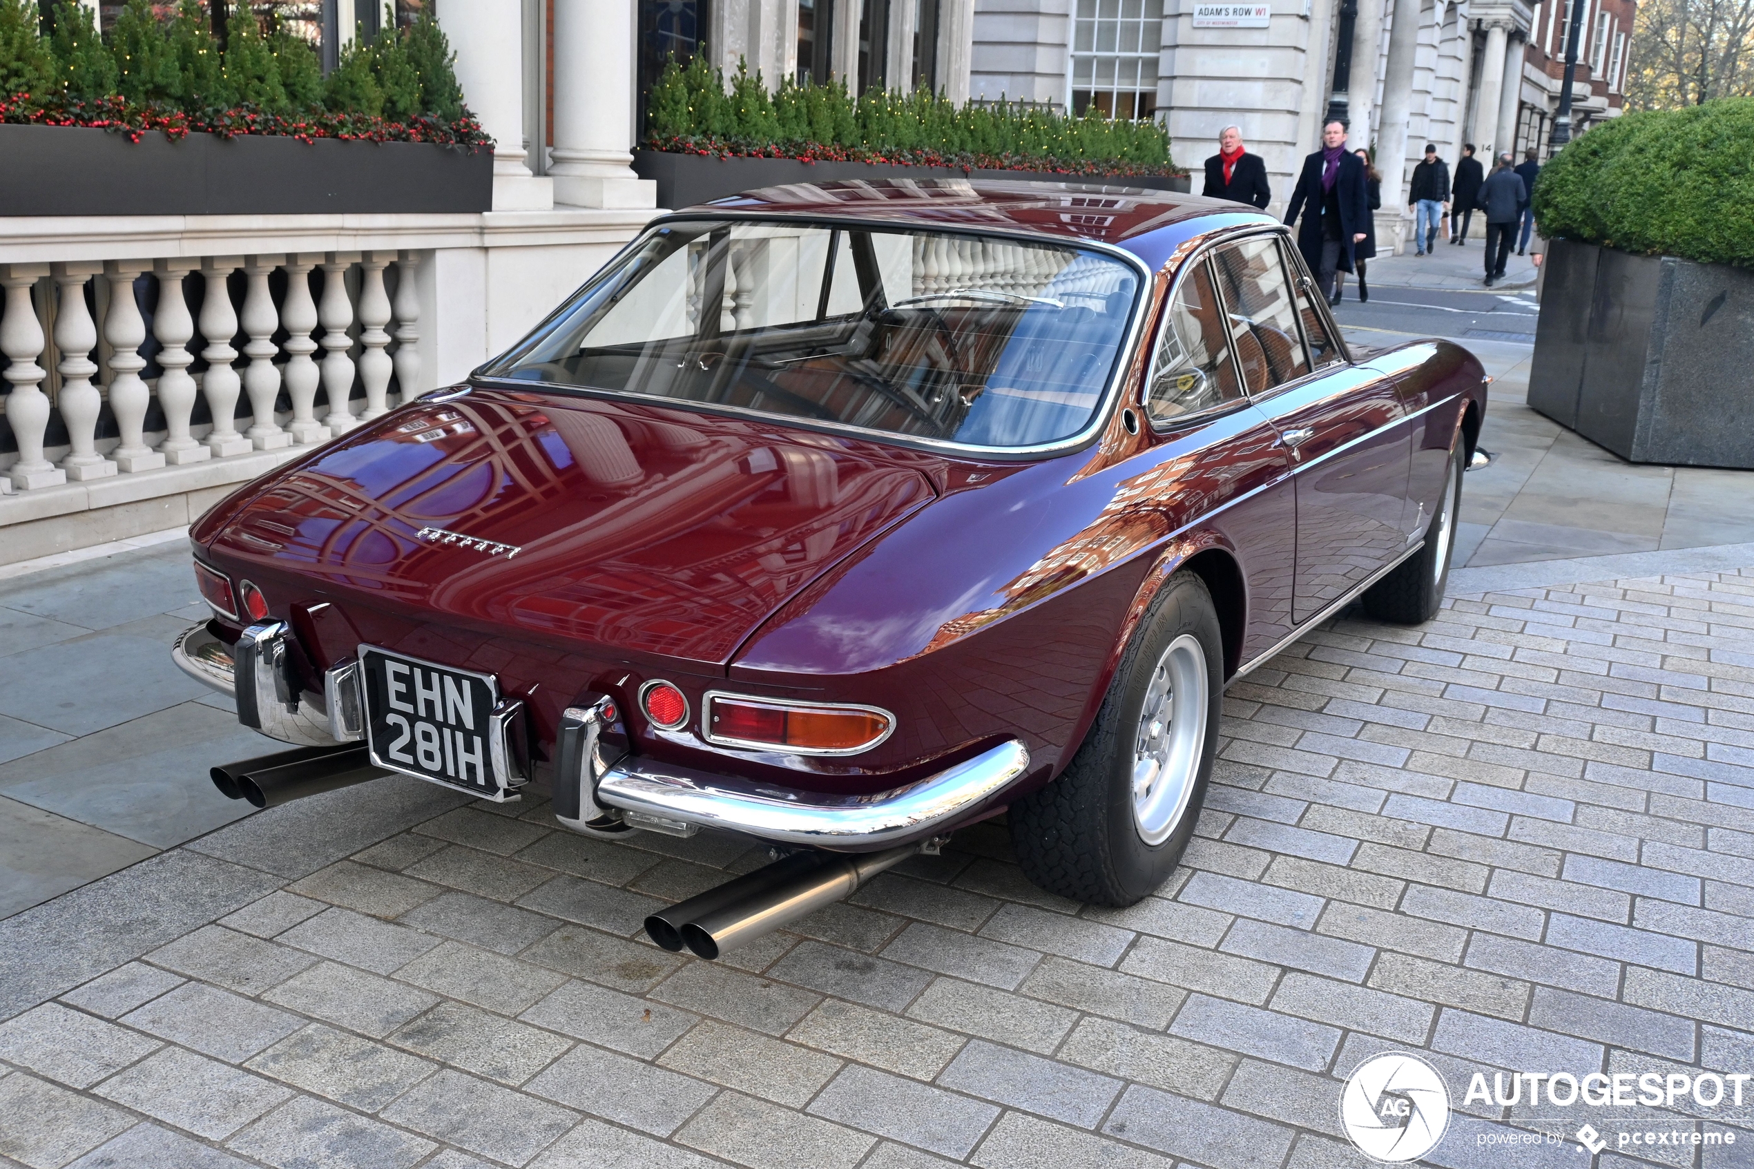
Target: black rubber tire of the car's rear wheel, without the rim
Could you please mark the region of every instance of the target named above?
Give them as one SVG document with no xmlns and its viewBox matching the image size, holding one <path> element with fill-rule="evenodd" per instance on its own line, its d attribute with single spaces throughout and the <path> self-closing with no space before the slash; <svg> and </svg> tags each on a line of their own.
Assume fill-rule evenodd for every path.
<svg viewBox="0 0 1754 1169">
<path fill-rule="evenodd" d="M 1151 845 L 1133 811 L 1135 736 L 1158 664 L 1182 634 L 1198 641 L 1205 659 L 1203 740 L 1180 820 Z M 1191 661 L 1193 648 L 1184 652 L 1184 661 Z M 1073 901 L 1128 906 L 1170 878 L 1205 803 L 1223 678 L 1223 636 L 1212 594 L 1200 577 L 1175 573 L 1121 655 L 1089 734 L 1065 773 L 1010 806 L 1012 845 L 1031 882 Z"/>
</svg>

